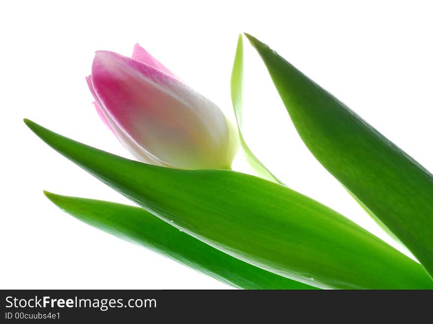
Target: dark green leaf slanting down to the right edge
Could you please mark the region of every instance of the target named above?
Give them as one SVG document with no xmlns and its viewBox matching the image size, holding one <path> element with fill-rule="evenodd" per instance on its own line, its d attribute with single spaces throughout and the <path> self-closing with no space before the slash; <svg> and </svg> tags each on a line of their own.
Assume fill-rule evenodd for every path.
<svg viewBox="0 0 433 324">
<path fill-rule="evenodd" d="M 247 38 L 311 153 L 433 277 L 432 174 L 266 44 Z"/>
</svg>

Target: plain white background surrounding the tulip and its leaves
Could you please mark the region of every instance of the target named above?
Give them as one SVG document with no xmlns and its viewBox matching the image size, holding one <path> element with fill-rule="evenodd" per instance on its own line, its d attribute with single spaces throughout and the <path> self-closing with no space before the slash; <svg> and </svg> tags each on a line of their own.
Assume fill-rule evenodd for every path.
<svg viewBox="0 0 433 324">
<path fill-rule="evenodd" d="M 43 196 L 46 189 L 129 203 L 22 122 L 129 157 L 93 109 L 84 77 L 94 51 L 130 55 L 139 42 L 233 118 L 237 36 L 251 33 L 433 171 L 429 2 L 1 1 L 0 288 L 228 288 L 80 223 Z M 263 64 L 245 48 L 253 151 L 291 188 L 393 243 L 304 147 Z M 241 158 L 235 168 L 247 171 Z"/>
</svg>

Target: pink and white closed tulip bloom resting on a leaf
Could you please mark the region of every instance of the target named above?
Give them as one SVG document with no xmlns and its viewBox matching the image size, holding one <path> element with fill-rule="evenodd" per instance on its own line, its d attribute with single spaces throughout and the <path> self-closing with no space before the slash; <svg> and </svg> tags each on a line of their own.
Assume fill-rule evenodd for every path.
<svg viewBox="0 0 433 324">
<path fill-rule="evenodd" d="M 233 126 L 138 44 L 132 58 L 98 51 L 87 83 L 98 115 L 139 161 L 181 169 L 229 169 Z"/>
</svg>

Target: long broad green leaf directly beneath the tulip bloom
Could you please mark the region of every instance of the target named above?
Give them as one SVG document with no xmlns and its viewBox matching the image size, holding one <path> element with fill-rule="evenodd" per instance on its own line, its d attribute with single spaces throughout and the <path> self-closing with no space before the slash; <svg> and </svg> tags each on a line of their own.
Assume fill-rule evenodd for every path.
<svg viewBox="0 0 433 324">
<path fill-rule="evenodd" d="M 283 185 L 228 170 L 148 165 L 26 124 L 125 197 L 251 265 L 318 288 L 433 289 L 421 265 Z"/>
</svg>

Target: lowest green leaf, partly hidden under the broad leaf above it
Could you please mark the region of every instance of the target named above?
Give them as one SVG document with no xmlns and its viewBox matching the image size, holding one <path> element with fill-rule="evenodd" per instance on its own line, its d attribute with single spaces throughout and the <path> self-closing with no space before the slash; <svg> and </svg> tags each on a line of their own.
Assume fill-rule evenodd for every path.
<svg viewBox="0 0 433 324">
<path fill-rule="evenodd" d="M 315 289 L 235 259 L 189 236 L 143 208 L 100 200 L 45 196 L 63 211 L 114 236 L 242 289 Z"/>
</svg>

